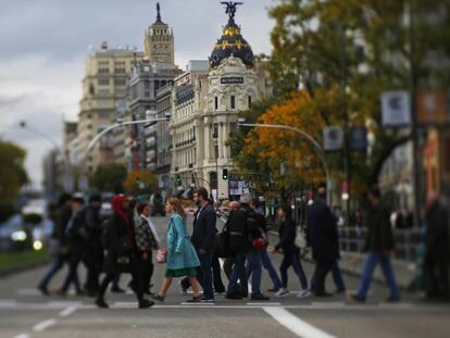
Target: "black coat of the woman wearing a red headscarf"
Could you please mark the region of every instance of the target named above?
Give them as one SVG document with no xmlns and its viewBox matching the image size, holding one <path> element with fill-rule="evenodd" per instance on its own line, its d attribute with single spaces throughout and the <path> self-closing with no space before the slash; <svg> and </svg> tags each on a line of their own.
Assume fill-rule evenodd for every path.
<svg viewBox="0 0 450 338">
<path fill-rule="evenodd" d="M 117 213 L 113 213 L 108 223 L 108 253 L 103 270 L 107 274 L 122 272 L 117 259 L 134 259 L 137 253 L 135 238 L 130 225 Z"/>
</svg>

